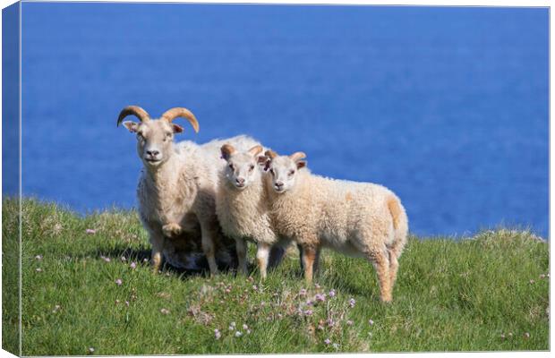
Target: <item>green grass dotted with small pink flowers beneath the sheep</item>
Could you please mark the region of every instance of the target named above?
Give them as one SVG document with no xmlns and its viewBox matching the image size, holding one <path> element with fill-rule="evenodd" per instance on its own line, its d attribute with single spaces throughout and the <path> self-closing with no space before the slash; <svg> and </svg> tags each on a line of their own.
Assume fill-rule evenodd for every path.
<svg viewBox="0 0 555 358">
<path fill-rule="evenodd" d="M 17 272 L 17 201 L 4 200 L 2 210 L 4 349 L 17 353 L 17 277 L 6 276 Z M 457 241 L 411 237 L 394 301 L 384 304 L 371 265 L 331 251 L 322 256 L 320 286 L 303 283 L 296 253 L 263 283 L 256 272 L 251 280 L 171 269 L 155 275 L 142 262 L 149 244 L 134 211 L 80 217 L 24 200 L 22 213 L 24 355 L 83 355 L 90 347 L 93 354 L 549 349 L 549 277 L 542 277 L 549 272 L 549 247 L 525 232 L 488 231 Z M 139 262 L 136 268 L 131 261 Z M 305 305 L 331 289 L 335 297 Z M 312 316 L 297 314 L 299 307 Z M 228 329 L 234 321 L 243 337 Z"/>
</svg>

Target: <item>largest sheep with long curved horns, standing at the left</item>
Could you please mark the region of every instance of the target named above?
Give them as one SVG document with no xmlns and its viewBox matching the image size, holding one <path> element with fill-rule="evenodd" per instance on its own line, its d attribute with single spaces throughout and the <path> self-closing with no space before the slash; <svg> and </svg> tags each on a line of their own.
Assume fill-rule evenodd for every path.
<svg viewBox="0 0 555 358">
<path fill-rule="evenodd" d="M 135 115 L 141 121 L 126 121 L 124 126 L 137 133 L 137 153 L 144 166 L 137 197 L 141 222 L 152 244 L 153 268 L 158 270 L 168 246 L 183 246 L 168 241 L 190 239 L 200 234 L 210 273 L 215 275 L 218 272 L 216 259 L 230 263 L 232 258 L 226 245 L 233 246 L 233 240 L 221 235 L 216 216 L 218 171 L 226 164 L 218 158 L 218 150 L 225 142 L 250 148 L 256 141 L 239 136 L 204 145 L 192 141 L 174 143 L 174 134 L 184 131 L 182 126 L 172 123 L 177 117 L 187 119 L 194 131 L 199 132 L 196 118 L 183 107 L 169 109 L 159 119 L 150 119 L 141 107 L 125 107 L 117 124 L 128 115 Z"/>
</svg>

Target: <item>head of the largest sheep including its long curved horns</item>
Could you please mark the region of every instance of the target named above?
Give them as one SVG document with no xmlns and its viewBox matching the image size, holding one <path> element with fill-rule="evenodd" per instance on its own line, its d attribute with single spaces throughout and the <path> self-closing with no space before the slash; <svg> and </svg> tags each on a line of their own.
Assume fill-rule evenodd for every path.
<svg viewBox="0 0 555 358">
<path fill-rule="evenodd" d="M 137 154 L 145 166 L 159 166 L 173 152 L 174 134 L 184 132 L 184 128 L 172 121 L 177 117 L 186 118 L 194 132 L 199 132 L 199 123 L 191 111 L 183 107 L 167 110 L 159 119 L 150 119 L 149 114 L 137 106 L 125 107 L 117 118 L 121 124 L 128 115 L 135 115 L 141 122 L 125 121 L 124 126 L 129 132 L 137 135 Z"/>
</svg>

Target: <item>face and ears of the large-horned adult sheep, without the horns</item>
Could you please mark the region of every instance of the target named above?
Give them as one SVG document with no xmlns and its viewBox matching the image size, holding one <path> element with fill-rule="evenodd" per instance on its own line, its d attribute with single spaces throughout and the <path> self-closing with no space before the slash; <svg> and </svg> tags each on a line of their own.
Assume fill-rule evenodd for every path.
<svg viewBox="0 0 555 358">
<path fill-rule="evenodd" d="M 137 154 L 145 166 L 156 167 L 166 162 L 173 152 L 174 133 L 182 132 L 177 124 L 163 120 L 151 120 L 135 124 L 132 132 L 137 133 Z"/>
</svg>

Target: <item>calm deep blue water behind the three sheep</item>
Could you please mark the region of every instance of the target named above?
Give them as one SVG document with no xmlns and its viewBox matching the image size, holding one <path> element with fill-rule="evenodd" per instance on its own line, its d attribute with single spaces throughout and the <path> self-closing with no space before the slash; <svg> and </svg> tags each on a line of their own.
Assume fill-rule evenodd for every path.
<svg viewBox="0 0 555 358">
<path fill-rule="evenodd" d="M 548 233 L 547 9 L 22 4 L 23 194 L 135 205 L 122 107 L 382 183 L 415 234 Z M 9 187 L 9 185 L 8 185 Z"/>
</svg>

